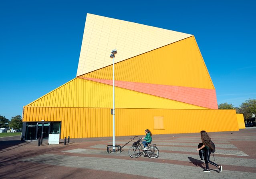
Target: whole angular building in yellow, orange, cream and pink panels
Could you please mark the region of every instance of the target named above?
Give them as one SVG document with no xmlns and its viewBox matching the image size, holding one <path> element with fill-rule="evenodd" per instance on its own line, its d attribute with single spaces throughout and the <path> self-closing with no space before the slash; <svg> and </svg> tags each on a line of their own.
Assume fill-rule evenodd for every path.
<svg viewBox="0 0 256 179">
<path fill-rule="evenodd" d="M 235 110 L 218 110 L 193 35 L 87 14 L 77 77 L 24 106 L 23 139 L 112 136 L 113 49 L 116 136 L 242 126 Z"/>
</svg>

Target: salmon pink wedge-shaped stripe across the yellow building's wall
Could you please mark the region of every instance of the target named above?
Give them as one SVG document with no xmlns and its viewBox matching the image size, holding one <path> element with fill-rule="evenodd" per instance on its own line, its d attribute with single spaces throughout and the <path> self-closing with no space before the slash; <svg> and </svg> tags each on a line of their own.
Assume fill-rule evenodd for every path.
<svg viewBox="0 0 256 179">
<path fill-rule="evenodd" d="M 83 78 L 83 77 L 78 77 Z M 103 84 L 113 85 L 112 80 L 83 78 Z M 210 109 L 218 109 L 216 91 L 212 89 L 168 86 L 159 84 L 124 82 L 115 80 L 115 86 L 133 91 L 139 91 L 175 101 L 194 104 Z"/>
</svg>

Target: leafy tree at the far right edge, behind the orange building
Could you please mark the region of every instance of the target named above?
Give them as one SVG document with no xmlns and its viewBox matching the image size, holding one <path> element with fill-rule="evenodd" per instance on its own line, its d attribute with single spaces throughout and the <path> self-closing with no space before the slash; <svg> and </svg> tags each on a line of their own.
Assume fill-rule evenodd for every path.
<svg viewBox="0 0 256 179">
<path fill-rule="evenodd" d="M 256 99 L 245 100 L 241 105 L 240 109 L 246 119 L 256 115 Z"/>
</svg>

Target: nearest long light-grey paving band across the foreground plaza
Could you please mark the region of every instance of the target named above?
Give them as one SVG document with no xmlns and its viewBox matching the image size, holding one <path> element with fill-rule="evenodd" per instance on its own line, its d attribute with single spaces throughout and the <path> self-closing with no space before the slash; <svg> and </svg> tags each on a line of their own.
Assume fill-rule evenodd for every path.
<svg viewBox="0 0 256 179">
<path fill-rule="evenodd" d="M 143 161 L 143 164 L 137 161 L 131 161 L 131 160 L 125 160 L 125 159 L 104 159 L 104 158 L 95 158 L 95 157 L 75 157 L 75 156 L 64 156 L 64 155 L 54 155 L 54 154 L 44 154 L 44 155 L 38 155 L 35 157 L 28 157 L 26 159 L 22 159 L 22 161 L 26 162 L 33 162 L 33 163 L 43 163 L 48 165 L 61 165 L 66 167 L 77 167 L 77 168 L 88 168 L 88 169 L 97 169 L 97 170 L 104 170 L 104 171 L 113 171 L 120 173 L 121 170 L 119 167 L 126 168 L 127 170 L 122 171 L 126 174 L 134 174 L 139 173 L 141 176 L 145 177 L 154 177 L 154 178 L 167 178 L 170 176 L 173 176 L 173 171 L 179 172 L 179 177 L 185 178 L 191 176 L 189 173 L 191 170 L 201 170 L 201 168 L 198 167 L 187 167 L 182 166 L 180 169 L 173 169 L 174 164 L 158 164 L 155 162 L 148 162 Z M 114 164 L 114 165 L 113 165 Z M 150 166 L 157 172 L 151 172 L 149 173 L 147 169 L 141 170 L 141 166 Z M 163 168 L 163 165 L 165 167 L 168 167 L 169 169 Z M 132 167 L 131 167 L 132 166 Z M 200 171 L 203 176 L 209 176 L 213 177 L 215 175 L 224 175 L 224 176 L 233 176 L 238 179 L 246 177 L 256 177 L 256 173 L 238 173 L 234 171 L 223 171 L 222 173 L 218 173 L 214 170 L 211 170 L 211 173 L 205 174 Z M 161 173 L 161 175 L 159 174 Z M 208 178 L 209 178 L 208 177 Z M 216 176 L 215 176 L 216 178 Z"/>
</svg>

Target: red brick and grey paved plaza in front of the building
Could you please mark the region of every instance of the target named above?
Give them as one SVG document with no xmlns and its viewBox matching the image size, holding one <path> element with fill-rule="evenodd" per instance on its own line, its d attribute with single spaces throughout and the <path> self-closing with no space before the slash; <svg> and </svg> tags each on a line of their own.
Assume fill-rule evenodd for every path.
<svg viewBox="0 0 256 179">
<path fill-rule="evenodd" d="M 112 137 L 71 139 L 64 145 L 38 147 L 37 141 L 20 141 L 19 137 L 0 138 L 0 178 L 18 179 L 255 179 L 256 128 L 240 131 L 212 132 L 216 145 L 215 161 L 222 173 L 204 161 L 196 151 L 200 133 L 153 135 L 152 144 L 159 157 L 143 155 L 131 158 L 128 149 L 142 136 L 116 137 L 121 152 L 107 153 Z"/>
</svg>

